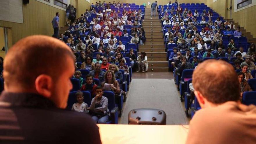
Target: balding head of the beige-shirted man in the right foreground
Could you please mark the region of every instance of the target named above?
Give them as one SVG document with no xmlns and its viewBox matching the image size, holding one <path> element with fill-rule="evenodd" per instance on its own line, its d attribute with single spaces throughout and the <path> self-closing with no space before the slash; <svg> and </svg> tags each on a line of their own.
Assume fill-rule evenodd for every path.
<svg viewBox="0 0 256 144">
<path fill-rule="evenodd" d="M 240 98 L 237 74 L 234 67 L 225 61 L 204 61 L 193 72 L 192 79 L 195 90 L 213 104 Z"/>
</svg>

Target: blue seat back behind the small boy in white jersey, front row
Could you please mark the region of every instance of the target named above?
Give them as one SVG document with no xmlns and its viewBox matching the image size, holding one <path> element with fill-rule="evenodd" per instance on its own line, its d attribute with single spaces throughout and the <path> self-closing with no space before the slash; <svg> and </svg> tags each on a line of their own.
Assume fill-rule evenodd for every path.
<svg viewBox="0 0 256 144">
<path fill-rule="evenodd" d="M 78 91 L 73 91 L 70 92 L 68 95 L 68 100 L 67 100 L 67 109 L 71 109 L 73 104 L 77 102 L 77 97 L 76 93 Z M 88 104 L 88 107 L 91 105 L 91 93 L 88 91 L 81 91 L 83 93 L 83 102 Z"/>
</svg>

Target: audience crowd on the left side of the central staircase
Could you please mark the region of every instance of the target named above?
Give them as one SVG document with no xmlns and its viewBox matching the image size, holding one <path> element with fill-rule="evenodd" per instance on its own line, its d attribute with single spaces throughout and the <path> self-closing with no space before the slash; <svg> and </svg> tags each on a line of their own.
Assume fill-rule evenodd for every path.
<svg viewBox="0 0 256 144">
<path fill-rule="evenodd" d="M 71 5 L 68 6 L 66 18 L 69 28 L 58 39 L 65 42 L 75 55 L 74 78 L 79 79 L 80 90 L 89 91 L 94 98 L 88 107 L 83 102 L 83 93 L 78 91 L 77 103 L 72 110 L 89 110 L 95 121 L 106 123 L 110 113 L 107 109 L 108 99 L 102 96 L 102 91 L 113 91 L 115 98 L 126 95 L 120 89 L 120 84 L 125 81 L 122 71 L 128 74 L 129 66 L 136 72 L 146 72 L 148 69 L 146 53 L 141 51 L 137 56 L 136 49 L 127 47 L 129 43 L 136 47 L 144 45 L 145 31 L 141 26 L 145 9 L 134 8 L 128 3 L 99 1 L 92 3 L 90 9 L 77 19 L 72 16 L 75 11 Z M 127 41 L 124 42 L 122 37 L 127 37 Z M 90 74 L 83 79 L 80 69 L 89 70 Z M 100 86 L 93 79 L 99 79 Z"/>
</svg>

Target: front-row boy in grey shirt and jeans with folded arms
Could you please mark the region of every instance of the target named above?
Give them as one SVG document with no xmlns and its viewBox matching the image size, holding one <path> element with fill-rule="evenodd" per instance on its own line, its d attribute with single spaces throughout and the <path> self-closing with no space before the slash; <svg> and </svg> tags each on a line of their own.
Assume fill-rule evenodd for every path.
<svg viewBox="0 0 256 144">
<path fill-rule="evenodd" d="M 108 98 L 102 96 L 101 86 L 96 87 L 96 96 L 92 99 L 90 105 L 90 115 L 93 120 L 99 124 L 105 124 L 109 120 Z"/>
</svg>

